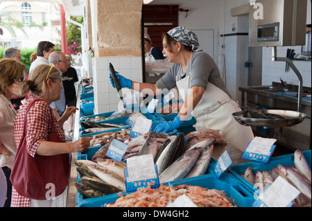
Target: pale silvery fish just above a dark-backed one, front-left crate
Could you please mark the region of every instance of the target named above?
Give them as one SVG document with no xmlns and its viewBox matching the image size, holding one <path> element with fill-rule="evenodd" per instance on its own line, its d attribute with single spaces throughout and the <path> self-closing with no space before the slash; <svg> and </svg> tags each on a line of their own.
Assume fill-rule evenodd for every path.
<svg viewBox="0 0 312 221">
<path fill-rule="evenodd" d="M 116 173 L 109 172 L 101 166 L 90 165 L 88 168 L 100 179 L 102 179 L 107 184 L 120 188 L 122 191 L 125 191 L 125 182 L 124 178 L 120 177 Z"/>
</svg>

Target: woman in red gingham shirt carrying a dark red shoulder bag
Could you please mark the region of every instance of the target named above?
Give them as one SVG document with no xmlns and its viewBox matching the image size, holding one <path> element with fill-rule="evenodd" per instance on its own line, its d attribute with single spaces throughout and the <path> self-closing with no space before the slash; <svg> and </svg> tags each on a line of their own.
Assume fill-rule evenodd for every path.
<svg viewBox="0 0 312 221">
<path fill-rule="evenodd" d="M 65 142 L 65 135 L 62 131 L 62 125 L 64 121 L 67 121 L 69 116 L 73 112 L 76 112 L 76 107 L 67 107 L 64 114 L 58 120 L 55 118 L 51 107 L 49 106 L 53 101 L 60 100 L 60 91 L 62 89 L 61 85 L 60 70 L 56 68 L 53 64 L 40 64 L 35 69 L 33 69 L 32 75 L 28 80 L 24 82 L 21 87 L 21 91 L 25 94 L 27 91 L 31 91 L 29 98 L 26 103 L 19 109 L 19 113 L 15 118 L 15 141 L 17 147 L 22 140 L 22 134 L 24 131 L 24 119 L 26 118 L 26 140 L 27 140 L 27 151 L 28 154 L 33 158 L 37 157 L 47 157 L 51 159 L 52 157 L 58 158 L 58 163 L 62 165 L 62 171 L 55 170 L 53 177 L 58 179 L 60 174 L 65 177 L 69 177 L 69 153 L 71 152 L 83 152 L 89 148 L 89 141 L 92 139 L 90 137 L 82 137 L 73 143 Z M 33 101 L 35 101 L 33 103 Z M 32 105 L 31 105 L 32 104 Z M 28 109 L 28 114 L 26 115 L 26 110 Z M 52 128 L 58 135 L 58 139 L 61 141 L 49 141 L 49 134 Z M 45 158 L 45 159 L 47 159 Z M 18 159 L 18 153 L 17 157 Z M 50 166 L 45 165 L 45 166 Z M 15 170 L 15 164 L 12 167 L 11 178 L 15 177 L 15 174 L 19 175 L 18 171 Z M 55 207 L 55 206 L 65 206 L 67 200 L 67 191 L 64 189 L 59 195 L 55 194 L 55 198 L 46 200 L 34 200 L 26 196 L 19 195 L 17 189 L 15 189 L 15 182 L 12 181 L 12 207 Z M 55 189 L 58 187 L 58 183 L 53 183 Z M 68 184 L 68 180 L 67 180 Z M 65 188 L 67 186 L 65 185 Z M 63 187 L 64 184 L 61 186 Z M 20 185 L 19 185 L 20 186 Z M 17 186 L 16 186 L 17 187 Z M 40 187 L 36 186 L 36 190 Z M 46 191 L 49 191 L 47 189 Z"/>
</svg>

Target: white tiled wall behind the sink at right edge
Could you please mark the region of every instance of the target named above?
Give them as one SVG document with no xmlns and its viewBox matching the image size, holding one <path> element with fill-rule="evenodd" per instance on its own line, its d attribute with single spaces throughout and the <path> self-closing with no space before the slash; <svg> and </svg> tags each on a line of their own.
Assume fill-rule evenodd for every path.
<svg viewBox="0 0 312 221">
<path fill-rule="evenodd" d="M 301 53 L 301 46 L 277 47 L 277 57 L 286 57 L 287 48 L 295 50 L 297 55 Z M 311 61 L 294 61 L 295 67 L 300 71 L 303 78 L 303 86 L 311 87 Z M 263 47 L 262 59 L 262 85 L 271 85 L 279 82 L 279 78 L 291 85 L 298 85 L 297 75 L 290 69 L 285 73 L 286 62 L 272 62 L 272 47 Z"/>
</svg>

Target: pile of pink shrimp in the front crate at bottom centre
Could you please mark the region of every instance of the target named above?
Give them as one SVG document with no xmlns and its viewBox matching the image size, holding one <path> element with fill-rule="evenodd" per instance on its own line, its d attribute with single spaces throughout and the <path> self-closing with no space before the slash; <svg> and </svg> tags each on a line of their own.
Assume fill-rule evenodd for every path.
<svg viewBox="0 0 312 221">
<path fill-rule="evenodd" d="M 223 191 L 207 189 L 200 186 L 165 186 L 159 188 L 139 188 L 135 193 L 123 196 L 116 202 L 107 204 L 106 207 L 164 207 L 168 202 L 173 202 L 180 195 L 187 195 L 198 207 L 233 207 L 231 200 Z"/>
</svg>

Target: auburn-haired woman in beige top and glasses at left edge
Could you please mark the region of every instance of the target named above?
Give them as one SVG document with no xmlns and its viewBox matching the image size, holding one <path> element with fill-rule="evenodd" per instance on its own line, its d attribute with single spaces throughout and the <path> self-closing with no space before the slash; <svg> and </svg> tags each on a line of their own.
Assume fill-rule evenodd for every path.
<svg viewBox="0 0 312 221">
<path fill-rule="evenodd" d="M 19 89 L 25 79 L 25 69 L 25 64 L 17 60 L 11 58 L 0 60 L 0 166 L 7 179 L 5 207 L 10 207 L 12 190 L 10 173 L 17 151 L 14 139 L 14 120 L 17 112 L 10 100 L 19 96 Z M 1 189 L 4 189 L 3 186 Z"/>
</svg>

